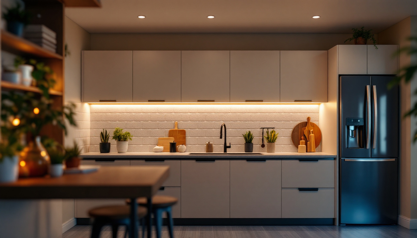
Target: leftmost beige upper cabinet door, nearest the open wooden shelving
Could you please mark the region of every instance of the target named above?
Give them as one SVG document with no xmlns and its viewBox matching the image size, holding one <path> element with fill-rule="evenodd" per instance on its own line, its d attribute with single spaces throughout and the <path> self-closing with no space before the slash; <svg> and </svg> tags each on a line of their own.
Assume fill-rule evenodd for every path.
<svg viewBox="0 0 417 238">
<path fill-rule="evenodd" d="M 132 102 L 132 51 L 83 51 L 83 102 Z"/>
</svg>

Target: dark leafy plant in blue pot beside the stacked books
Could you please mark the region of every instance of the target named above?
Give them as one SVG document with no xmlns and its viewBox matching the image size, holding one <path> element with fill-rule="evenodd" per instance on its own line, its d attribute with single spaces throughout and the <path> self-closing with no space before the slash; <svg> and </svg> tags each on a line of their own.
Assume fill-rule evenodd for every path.
<svg viewBox="0 0 417 238">
<path fill-rule="evenodd" d="M 15 7 L 6 8 L 3 18 L 7 21 L 7 30 L 22 37 L 23 28 L 29 23 L 30 13 L 23 10 L 20 3 L 16 3 Z"/>
</svg>

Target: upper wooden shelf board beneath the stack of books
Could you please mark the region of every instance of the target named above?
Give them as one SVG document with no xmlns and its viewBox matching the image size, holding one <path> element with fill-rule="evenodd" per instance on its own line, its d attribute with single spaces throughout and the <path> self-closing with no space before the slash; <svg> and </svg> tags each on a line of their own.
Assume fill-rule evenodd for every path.
<svg viewBox="0 0 417 238">
<path fill-rule="evenodd" d="M 5 30 L 1 31 L 1 48 L 2 50 L 18 55 L 30 55 L 35 58 L 63 59 L 62 55 L 46 50 L 29 40 L 18 37 Z"/>
</svg>

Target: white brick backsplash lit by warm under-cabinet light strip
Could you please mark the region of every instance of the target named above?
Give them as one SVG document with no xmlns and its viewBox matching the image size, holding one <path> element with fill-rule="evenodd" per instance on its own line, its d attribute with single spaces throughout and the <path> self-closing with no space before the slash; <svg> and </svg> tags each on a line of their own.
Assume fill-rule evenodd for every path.
<svg viewBox="0 0 417 238">
<path fill-rule="evenodd" d="M 119 108 L 120 107 L 120 108 Z M 251 130 L 254 134 L 254 152 L 266 152 L 261 148 L 260 127 L 275 127 L 279 133 L 276 152 L 296 152 L 292 144 L 292 128 L 311 117 L 319 124 L 319 105 L 90 105 L 77 113 L 81 127 L 78 128 L 80 148 L 98 152 L 100 132 L 107 129 L 111 135 L 116 127 L 124 128 L 134 137 L 129 141 L 129 152 L 150 152 L 157 144 L 158 137 L 167 137 L 168 131 L 178 121 L 178 129 L 187 133 L 187 152 L 204 152 L 206 142 L 214 142 L 214 152 L 223 152 L 224 139 L 220 139 L 220 125 L 227 126 L 228 151 L 244 151 L 242 134 Z M 91 113 L 87 113 L 87 111 Z M 116 152 L 116 143 L 111 139 L 111 151 Z M 266 143 L 266 142 L 265 142 Z M 317 148 L 321 151 L 321 146 Z"/>
</svg>

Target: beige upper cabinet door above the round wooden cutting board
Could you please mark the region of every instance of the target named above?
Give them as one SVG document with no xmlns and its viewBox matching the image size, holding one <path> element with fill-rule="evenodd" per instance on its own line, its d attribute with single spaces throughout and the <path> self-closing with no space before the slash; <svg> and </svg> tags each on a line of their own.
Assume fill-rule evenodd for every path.
<svg viewBox="0 0 417 238">
<path fill-rule="evenodd" d="M 281 51 L 281 102 L 327 102 L 327 50 Z"/>
</svg>

